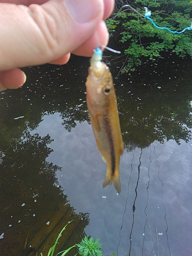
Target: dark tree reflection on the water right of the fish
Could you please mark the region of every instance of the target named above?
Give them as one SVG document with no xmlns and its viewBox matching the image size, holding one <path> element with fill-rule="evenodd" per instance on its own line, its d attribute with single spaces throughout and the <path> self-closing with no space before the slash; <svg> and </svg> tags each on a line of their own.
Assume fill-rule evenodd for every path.
<svg viewBox="0 0 192 256">
<path fill-rule="evenodd" d="M 191 65 L 183 60 L 182 66 L 186 66 L 182 70 L 177 62 L 163 65 L 163 61 L 151 62 L 153 68 L 149 64 L 141 67 L 129 78 L 133 83 L 126 82 L 118 92 L 123 141 L 128 151 L 147 147 L 154 141 L 173 139 L 180 144 L 180 140 L 188 142 L 191 138 Z"/>
</svg>

